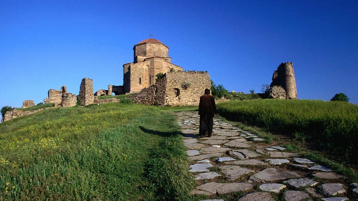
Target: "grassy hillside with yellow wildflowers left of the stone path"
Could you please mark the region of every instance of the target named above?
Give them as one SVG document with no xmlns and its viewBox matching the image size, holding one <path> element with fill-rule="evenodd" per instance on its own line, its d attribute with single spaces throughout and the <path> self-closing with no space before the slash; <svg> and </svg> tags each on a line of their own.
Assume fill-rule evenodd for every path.
<svg viewBox="0 0 358 201">
<path fill-rule="evenodd" d="M 0 124 L 0 200 L 188 200 L 175 116 L 151 106 L 53 108 Z"/>
</svg>

